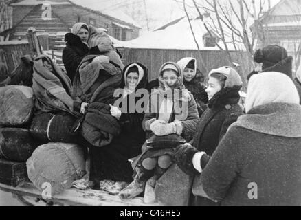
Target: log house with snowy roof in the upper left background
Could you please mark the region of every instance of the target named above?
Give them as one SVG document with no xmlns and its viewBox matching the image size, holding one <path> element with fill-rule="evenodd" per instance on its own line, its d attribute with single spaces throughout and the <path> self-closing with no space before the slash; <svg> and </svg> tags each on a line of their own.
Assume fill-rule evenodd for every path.
<svg viewBox="0 0 301 220">
<path fill-rule="evenodd" d="M 109 35 L 120 41 L 128 41 L 139 36 L 140 26 L 123 12 L 100 11 L 93 9 L 93 5 L 86 7 L 85 1 L 79 2 L 19 0 L 10 4 L 12 7 L 10 39 L 26 39 L 27 28 L 31 26 L 36 28 L 38 32 L 48 32 L 49 34 L 69 32 L 72 25 L 79 21 L 103 28 L 107 30 Z M 45 5 L 47 4 L 51 6 L 51 19 L 47 19 L 49 13 L 45 13 L 47 11 Z"/>
</svg>

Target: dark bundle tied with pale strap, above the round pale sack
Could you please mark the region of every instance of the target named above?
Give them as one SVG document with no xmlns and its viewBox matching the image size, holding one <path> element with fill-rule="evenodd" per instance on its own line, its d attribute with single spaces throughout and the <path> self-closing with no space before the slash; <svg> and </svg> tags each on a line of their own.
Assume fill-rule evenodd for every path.
<svg viewBox="0 0 301 220">
<path fill-rule="evenodd" d="M 37 140 L 47 142 L 78 143 L 80 136 L 73 130 L 77 118 L 67 112 L 41 113 L 34 115 L 30 125 L 30 134 Z"/>
</svg>

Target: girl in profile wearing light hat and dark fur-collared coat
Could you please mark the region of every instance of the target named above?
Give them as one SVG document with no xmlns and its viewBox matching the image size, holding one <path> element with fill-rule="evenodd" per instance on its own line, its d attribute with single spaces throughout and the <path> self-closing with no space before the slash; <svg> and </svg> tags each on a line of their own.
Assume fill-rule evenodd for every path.
<svg viewBox="0 0 301 220">
<path fill-rule="evenodd" d="M 238 91 L 243 83 L 236 70 L 232 67 L 220 67 L 212 69 L 208 76 L 208 87 L 205 90 L 209 98 L 208 109 L 200 118 L 191 142 L 192 146 L 190 144 L 179 146 L 175 155 L 179 168 L 191 175 L 197 173 L 192 164 L 194 155 L 192 150 L 212 155 L 230 124 L 243 114 L 238 105 L 240 99 Z M 199 161 L 198 158 L 193 159 Z M 197 206 L 216 205 L 213 201 L 202 197 L 192 198 L 192 203 Z"/>
</svg>

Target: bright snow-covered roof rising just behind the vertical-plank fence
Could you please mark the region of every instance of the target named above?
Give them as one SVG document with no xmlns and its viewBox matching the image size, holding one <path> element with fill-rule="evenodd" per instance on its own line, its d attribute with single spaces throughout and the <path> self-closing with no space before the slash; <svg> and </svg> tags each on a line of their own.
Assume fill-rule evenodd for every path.
<svg viewBox="0 0 301 220">
<path fill-rule="evenodd" d="M 203 35 L 207 33 L 200 19 L 190 21 L 197 42 L 201 50 L 219 50 L 219 47 L 205 47 Z M 222 46 L 221 43 L 219 45 Z M 129 48 L 152 48 L 152 49 L 173 49 L 173 50 L 197 50 L 188 19 L 182 19 L 176 24 L 170 25 L 164 30 L 147 32 L 146 34 L 131 41 L 122 41 L 116 47 Z M 234 50 L 232 43 L 228 45 L 230 50 Z"/>
</svg>

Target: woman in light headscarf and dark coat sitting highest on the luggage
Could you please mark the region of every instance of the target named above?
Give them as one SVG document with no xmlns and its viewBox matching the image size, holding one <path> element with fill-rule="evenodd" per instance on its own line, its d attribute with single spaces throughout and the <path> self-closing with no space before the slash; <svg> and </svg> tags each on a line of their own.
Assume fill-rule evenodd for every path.
<svg viewBox="0 0 301 220">
<path fill-rule="evenodd" d="M 74 24 L 71 28 L 71 33 L 65 35 L 65 41 L 67 41 L 67 43 L 63 50 L 62 58 L 71 82 L 73 82 L 76 69 L 84 56 L 87 54 L 100 54 L 97 45 L 89 49 L 87 44 L 88 39 L 89 27 L 82 22 Z"/>
</svg>

